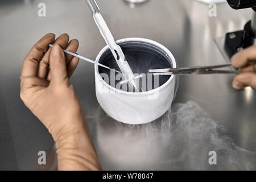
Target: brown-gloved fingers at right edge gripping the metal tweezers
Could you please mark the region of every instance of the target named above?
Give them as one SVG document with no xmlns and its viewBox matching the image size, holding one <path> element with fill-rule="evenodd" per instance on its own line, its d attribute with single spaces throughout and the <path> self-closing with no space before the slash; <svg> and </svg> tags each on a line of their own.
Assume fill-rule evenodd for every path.
<svg viewBox="0 0 256 182">
<path fill-rule="evenodd" d="M 256 46 L 251 46 L 236 53 L 231 59 L 233 67 L 240 68 L 239 75 L 233 80 L 235 89 L 243 89 L 246 86 L 256 89 Z"/>
</svg>

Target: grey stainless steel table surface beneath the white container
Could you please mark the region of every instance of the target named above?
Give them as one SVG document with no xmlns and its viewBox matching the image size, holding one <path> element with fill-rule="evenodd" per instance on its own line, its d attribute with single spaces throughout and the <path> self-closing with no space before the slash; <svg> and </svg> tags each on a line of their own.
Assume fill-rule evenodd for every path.
<svg viewBox="0 0 256 182">
<path fill-rule="evenodd" d="M 56 169 L 51 135 L 19 98 L 20 69 L 31 46 L 47 32 L 67 32 L 79 39 L 78 52 L 90 59 L 105 46 L 84 1 L 46 0 L 46 17 L 38 16 L 40 2 L 0 1 L 0 169 Z M 240 30 L 251 16 L 251 10 L 232 10 L 224 3 L 211 18 L 208 5 L 192 0 L 150 0 L 139 6 L 122 0 L 98 3 L 115 39 L 155 40 L 170 49 L 179 67 L 226 63 L 213 40 Z M 250 88 L 232 89 L 232 77 L 180 77 L 172 113 L 184 114 L 182 106 L 195 117 L 202 114 L 200 108 L 208 113 L 201 120 L 191 117 L 184 126 L 167 119 L 175 117 L 171 112 L 142 126 L 108 117 L 97 103 L 90 63 L 80 61 L 71 82 L 104 169 L 255 170 L 256 94 Z M 217 165 L 208 163 L 212 150 Z M 39 151 L 46 151 L 46 165 L 38 164 Z"/>
</svg>

